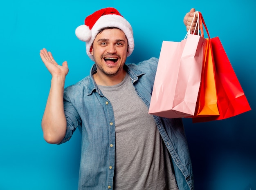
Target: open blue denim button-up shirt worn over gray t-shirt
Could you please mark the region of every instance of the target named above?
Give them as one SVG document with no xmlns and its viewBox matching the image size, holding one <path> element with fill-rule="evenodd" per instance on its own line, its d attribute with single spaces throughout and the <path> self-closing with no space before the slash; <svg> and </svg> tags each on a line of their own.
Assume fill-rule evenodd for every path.
<svg viewBox="0 0 256 190">
<path fill-rule="evenodd" d="M 141 100 L 149 107 L 153 90 L 157 58 L 138 64 L 126 64 L 124 69 Z M 115 170 L 115 118 L 111 103 L 101 93 L 92 75 L 64 90 L 64 110 L 68 141 L 76 127 L 81 129 L 81 162 L 79 190 L 112 190 Z M 154 116 L 157 128 L 170 152 L 179 190 L 194 190 L 189 149 L 181 118 Z M 143 138 L 143 136 L 141 136 Z"/>
</svg>

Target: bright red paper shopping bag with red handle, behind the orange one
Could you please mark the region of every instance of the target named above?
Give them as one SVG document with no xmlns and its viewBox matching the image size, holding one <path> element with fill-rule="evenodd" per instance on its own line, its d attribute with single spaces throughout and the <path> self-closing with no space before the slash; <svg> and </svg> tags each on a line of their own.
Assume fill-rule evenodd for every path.
<svg viewBox="0 0 256 190">
<path fill-rule="evenodd" d="M 200 22 L 204 24 L 204 27 L 209 36 L 209 32 L 200 14 Z M 234 69 L 229 62 L 227 54 L 218 37 L 211 38 L 210 40 L 212 55 L 214 60 L 214 73 L 217 90 L 217 105 L 220 115 L 219 116 L 207 116 L 200 118 L 193 118 L 193 122 L 213 121 L 229 118 L 242 114 L 251 110 L 251 107 L 247 101 L 245 93 L 236 77 Z"/>
</svg>

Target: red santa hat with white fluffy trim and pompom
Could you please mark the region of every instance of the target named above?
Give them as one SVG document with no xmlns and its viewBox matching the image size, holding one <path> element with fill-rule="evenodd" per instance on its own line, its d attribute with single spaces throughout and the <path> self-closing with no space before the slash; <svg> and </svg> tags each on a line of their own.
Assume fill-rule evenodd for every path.
<svg viewBox="0 0 256 190">
<path fill-rule="evenodd" d="M 79 40 L 86 42 L 86 53 L 94 61 L 91 54 L 92 43 L 105 27 L 116 27 L 121 29 L 128 40 L 128 54 L 130 56 L 134 49 L 133 32 L 130 23 L 114 8 L 100 9 L 85 18 L 85 25 L 76 28 L 76 36 Z"/>
</svg>

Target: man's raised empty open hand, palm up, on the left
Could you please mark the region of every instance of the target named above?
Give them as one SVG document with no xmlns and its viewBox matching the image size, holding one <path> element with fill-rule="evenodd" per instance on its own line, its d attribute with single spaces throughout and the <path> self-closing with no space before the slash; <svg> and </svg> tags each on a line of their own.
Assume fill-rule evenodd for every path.
<svg viewBox="0 0 256 190">
<path fill-rule="evenodd" d="M 54 60 L 52 53 L 45 48 L 40 50 L 40 57 L 52 76 L 62 76 L 65 78 L 68 73 L 67 61 L 64 61 L 62 66 L 58 65 Z"/>
</svg>

